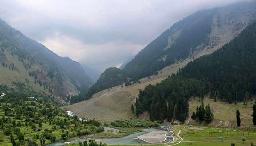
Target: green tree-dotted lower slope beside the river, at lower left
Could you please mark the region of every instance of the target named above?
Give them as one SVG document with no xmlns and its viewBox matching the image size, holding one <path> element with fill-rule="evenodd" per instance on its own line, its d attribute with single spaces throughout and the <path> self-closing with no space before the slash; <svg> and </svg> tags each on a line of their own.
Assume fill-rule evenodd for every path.
<svg viewBox="0 0 256 146">
<path fill-rule="evenodd" d="M 50 96 L 6 85 L 0 85 L 0 91 L 6 94 L 0 98 L 0 137 L 6 145 L 42 146 L 104 130 L 98 121 L 68 116 Z"/>
</svg>

